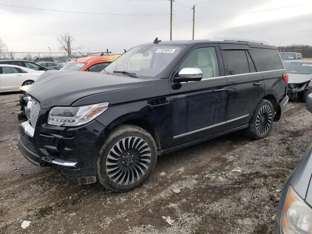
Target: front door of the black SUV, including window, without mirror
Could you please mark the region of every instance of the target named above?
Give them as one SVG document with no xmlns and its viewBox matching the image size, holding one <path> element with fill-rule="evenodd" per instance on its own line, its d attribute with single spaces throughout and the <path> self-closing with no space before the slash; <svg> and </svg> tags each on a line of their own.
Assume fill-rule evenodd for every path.
<svg viewBox="0 0 312 234">
<path fill-rule="evenodd" d="M 225 127 L 227 81 L 218 46 L 193 47 L 174 69 L 196 67 L 201 81 L 171 84 L 173 145 L 221 132 Z M 173 79 L 172 79 L 173 80 Z"/>
</svg>

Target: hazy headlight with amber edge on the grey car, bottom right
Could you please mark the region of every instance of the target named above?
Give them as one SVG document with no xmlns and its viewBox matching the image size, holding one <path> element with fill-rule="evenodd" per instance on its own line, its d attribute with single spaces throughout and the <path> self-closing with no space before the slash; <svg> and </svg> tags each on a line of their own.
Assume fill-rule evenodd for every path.
<svg viewBox="0 0 312 234">
<path fill-rule="evenodd" d="M 283 234 L 311 234 L 312 208 L 289 187 L 281 216 Z"/>
</svg>

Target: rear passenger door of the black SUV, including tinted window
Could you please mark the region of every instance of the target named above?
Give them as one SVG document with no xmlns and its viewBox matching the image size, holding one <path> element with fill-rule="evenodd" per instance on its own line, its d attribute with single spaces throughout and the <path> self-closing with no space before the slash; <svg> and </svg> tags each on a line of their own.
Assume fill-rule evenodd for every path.
<svg viewBox="0 0 312 234">
<path fill-rule="evenodd" d="M 234 46 L 221 50 L 228 81 L 227 129 L 248 123 L 265 93 L 263 75 L 256 72 L 249 50 Z"/>
</svg>

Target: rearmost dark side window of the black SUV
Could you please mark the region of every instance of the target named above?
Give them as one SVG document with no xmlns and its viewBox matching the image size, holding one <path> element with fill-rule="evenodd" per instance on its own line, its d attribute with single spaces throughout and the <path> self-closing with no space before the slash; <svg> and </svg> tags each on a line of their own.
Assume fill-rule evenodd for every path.
<svg viewBox="0 0 312 234">
<path fill-rule="evenodd" d="M 250 53 L 259 72 L 283 69 L 277 50 L 253 48 Z"/>
</svg>

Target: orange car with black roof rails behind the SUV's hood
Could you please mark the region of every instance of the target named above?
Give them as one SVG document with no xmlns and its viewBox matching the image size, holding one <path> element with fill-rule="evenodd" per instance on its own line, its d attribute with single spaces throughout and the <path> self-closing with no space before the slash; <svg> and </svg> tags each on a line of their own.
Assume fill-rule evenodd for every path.
<svg viewBox="0 0 312 234">
<path fill-rule="evenodd" d="M 120 55 L 90 56 L 75 59 L 62 67 L 61 71 L 100 72 Z"/>
</svg>

